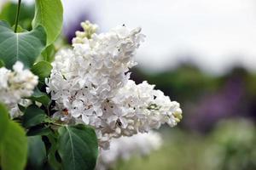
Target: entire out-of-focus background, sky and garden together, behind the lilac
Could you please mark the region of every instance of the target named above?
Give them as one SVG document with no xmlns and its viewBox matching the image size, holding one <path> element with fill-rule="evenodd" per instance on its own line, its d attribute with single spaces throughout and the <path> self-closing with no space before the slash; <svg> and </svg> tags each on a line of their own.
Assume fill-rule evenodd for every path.
<svg viewBox="0 0 256 170">
<path fill-rule="evenodd" d="M 15 1 L 0 0 L 0 20 L 14 23 Z M 27 30 L 33 0 L 23 0 Z M 163 144 L 148 156 L 119 160 L 114 169 L 256 169 L 256 2 L 254 0 L 63 0 L 60 43 L 79 23 L 108 31 L 141 26 L 137 83 L 148 80 L 177 100 L 183 121 L 161 127 Z"/>
</svg>

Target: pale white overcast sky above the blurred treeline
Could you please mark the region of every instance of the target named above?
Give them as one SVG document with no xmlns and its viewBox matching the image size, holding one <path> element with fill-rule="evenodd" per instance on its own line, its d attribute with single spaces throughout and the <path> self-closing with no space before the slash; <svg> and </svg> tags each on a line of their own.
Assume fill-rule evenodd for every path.
<svg viewBox="0 0 256 170">
<path fill-rule="evenodd" d="M 254 0 L 62 1 L 65 26 L 86 13 L 100 31 L 123 24 L 142 27 L 146 39 L 136 59 L 147 71 L 164 71 L 186 61 L 212 74 L 229 71 L 232 65 L 256 71 Z"/>
</svg>

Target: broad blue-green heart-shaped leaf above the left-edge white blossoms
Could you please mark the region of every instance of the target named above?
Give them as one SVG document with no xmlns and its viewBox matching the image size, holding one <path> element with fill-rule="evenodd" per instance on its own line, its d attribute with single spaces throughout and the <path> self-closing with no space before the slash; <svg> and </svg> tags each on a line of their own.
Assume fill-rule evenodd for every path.
<svg viewBox="0 0 256 170">
<path fill-rule="evenodd" d="M 0 59 L 11 69 L 17 60 L 26 67 L 31 67 L 46 43 L 43 26 L 32 31 L 15 33 L 5 22 L 0 21 Z"/>
</svg>

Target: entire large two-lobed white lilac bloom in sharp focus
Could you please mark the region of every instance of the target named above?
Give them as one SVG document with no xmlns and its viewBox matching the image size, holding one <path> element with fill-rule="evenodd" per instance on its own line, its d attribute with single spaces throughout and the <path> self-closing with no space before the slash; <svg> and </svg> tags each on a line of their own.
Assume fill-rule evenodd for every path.
<svg viewBox="0 0 256 170">
<path fill-rule="evenodd" d="M 119 26 L 96 34 L 97 26 L 88 21 L 82 26 L 73 48 L 55 56 L 46 80 L 55 118 L 95 127 L 102 148 L 108 148 L 113 137 L 148 132 L 163 123 L 175 126 L 182 118 L 179 104 L 147 82 L 136 85 L 129 80 L 144 38 L 141 29 Z"/>
</svg>

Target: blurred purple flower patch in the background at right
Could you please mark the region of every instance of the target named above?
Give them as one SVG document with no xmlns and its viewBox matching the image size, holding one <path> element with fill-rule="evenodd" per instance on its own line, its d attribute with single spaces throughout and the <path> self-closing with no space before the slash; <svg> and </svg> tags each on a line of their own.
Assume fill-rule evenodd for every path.
<svg viewBox="0 0 256 170">
<path fill-rule="evenodd" d="M 219 119 L 241 116 L 245 93 L 242 77 L 231 77 L 216 94 L 205 95 L 196 104 L 187 106 L 189 117 L 184 119 L 185 124 L 189 128 L 206 132 Z"/>
</svg>

